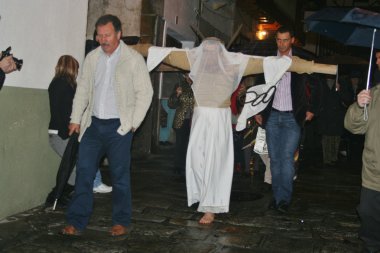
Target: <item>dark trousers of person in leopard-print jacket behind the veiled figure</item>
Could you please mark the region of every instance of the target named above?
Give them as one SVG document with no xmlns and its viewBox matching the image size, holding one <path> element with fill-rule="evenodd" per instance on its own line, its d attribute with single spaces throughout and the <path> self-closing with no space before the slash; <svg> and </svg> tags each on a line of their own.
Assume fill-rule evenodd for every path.
<svg viewBox="0 0 380 253">
<path fill-rule="evenodd" d="M 190 119 L 185 119 L 181 128 L 175 129 L 175 167 L 181 176 L 186 175 L 186 153 L 190 137 Z"/>
</svg>

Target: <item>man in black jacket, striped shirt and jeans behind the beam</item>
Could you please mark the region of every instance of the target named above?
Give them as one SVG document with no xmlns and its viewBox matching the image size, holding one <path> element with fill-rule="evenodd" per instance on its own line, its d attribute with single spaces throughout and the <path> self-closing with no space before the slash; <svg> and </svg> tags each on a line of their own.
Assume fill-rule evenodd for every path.
<svg viewBox="0 0 380 253">
<path fill-rule="evenodd" d="M 294 33 L 282 26 L 276 32 L 277 55 L 292 57 Z M 273 199 L 269 208 L 282 213 L 288 211 L 293 193 L 294 153 L 297 150 L 301 128 L 317 111 L 316 90 L 307 75 L 286 72 L 266 109 L 256 121 L 266 130 L 266 141 L 272 172 Z"/>
</svg>

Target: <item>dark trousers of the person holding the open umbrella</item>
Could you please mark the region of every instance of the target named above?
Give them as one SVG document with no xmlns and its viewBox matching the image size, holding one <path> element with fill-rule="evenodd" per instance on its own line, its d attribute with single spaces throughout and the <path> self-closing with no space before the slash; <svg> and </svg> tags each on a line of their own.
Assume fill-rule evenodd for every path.
<svg viewBox="0 0 380 253">
<path fill-rule="evenodd" d="M 357 210 L 361 220 L 360 239 L 368 252 L 380 251 L 380 192 L 362 187 Z"/>
</svg>

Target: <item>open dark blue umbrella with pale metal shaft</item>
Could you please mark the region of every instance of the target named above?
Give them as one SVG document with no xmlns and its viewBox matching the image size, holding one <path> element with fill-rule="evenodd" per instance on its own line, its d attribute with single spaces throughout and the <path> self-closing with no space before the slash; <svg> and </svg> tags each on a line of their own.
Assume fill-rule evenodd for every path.
<svg viewBox="0 0 380 253">
<path fill-rule="evenodd" d="M 380 14 L 360 8 L 326 8 L 306 18 L 307 29 L 346 45 L 371 47 L 367 89 L 373 48 L 380 49 Z"/>
</svg>

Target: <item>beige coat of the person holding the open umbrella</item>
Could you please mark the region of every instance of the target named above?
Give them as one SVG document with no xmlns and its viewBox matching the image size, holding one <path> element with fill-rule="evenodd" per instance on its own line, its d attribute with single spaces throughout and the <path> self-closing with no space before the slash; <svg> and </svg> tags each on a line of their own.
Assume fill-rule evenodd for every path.
<svg viewBox="0 0 380 253">
<path fill-rule="evenodd" d="M 354 134 L 365 134 L 363 150 L 362 186 L 380 192 L 380 86 L 371 89 L 368 121 L 364 109 L 352 104 L 346 113 L 344 126 Z"/>
</svg>

